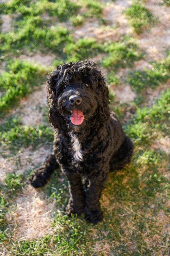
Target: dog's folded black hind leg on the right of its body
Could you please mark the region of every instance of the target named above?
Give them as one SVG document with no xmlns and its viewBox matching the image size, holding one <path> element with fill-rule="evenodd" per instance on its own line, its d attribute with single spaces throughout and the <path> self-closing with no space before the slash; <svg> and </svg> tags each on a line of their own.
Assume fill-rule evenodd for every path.
<svg viewBox="0 0 170 256">
<path fill-rule="evenodd" d="M 131 140 L 126 136 L 119 150 L 109 162 L 110 171 L 122 170 L 131 161 L 133 148 Z"/>
</svg>

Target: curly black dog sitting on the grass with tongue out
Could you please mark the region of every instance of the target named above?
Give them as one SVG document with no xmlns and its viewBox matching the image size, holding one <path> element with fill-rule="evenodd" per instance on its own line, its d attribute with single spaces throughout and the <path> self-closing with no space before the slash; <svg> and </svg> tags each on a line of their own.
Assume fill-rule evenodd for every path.
<svg viewBox="0 0 170 256">
<path fill-rule="evenodd" d="M 108 108 L 109 91 L 94 62 L 58 65 L 47 81 L 54 153 L 32 174 L 31 184 L 45 185 L 59 163 L 69 184 L 66 212 L 85 212 L 86 221 L 97 223 L 102 221 L 99 198 L 108 173 L 130 162 L 132 142 Z M 87 177 L 86 193 L 82 176 Z"/>
</svg>

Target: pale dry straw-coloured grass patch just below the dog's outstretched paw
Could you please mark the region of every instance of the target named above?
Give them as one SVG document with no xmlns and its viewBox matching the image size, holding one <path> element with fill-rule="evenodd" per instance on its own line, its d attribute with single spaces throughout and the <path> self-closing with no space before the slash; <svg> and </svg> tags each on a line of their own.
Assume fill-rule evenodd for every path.
<svg viewBox="0 0 170 256">
<path fill-rule="evenodd" d="M 6 214 L 8 227 L 14 232 L 14 239 L 24 240 L 52 234 L 50 225 L 55 199 L 44 199 L 43 191 L 26 185 L 19 193 L 10 212 Z"/>
</svg>

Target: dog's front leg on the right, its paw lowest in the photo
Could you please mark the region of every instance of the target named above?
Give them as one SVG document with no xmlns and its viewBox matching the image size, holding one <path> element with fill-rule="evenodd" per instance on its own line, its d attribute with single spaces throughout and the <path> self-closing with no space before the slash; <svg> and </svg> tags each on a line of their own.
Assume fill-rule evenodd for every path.
<svg viewBox="0 0 170 256">
<path fill-rule="evenodd" d="M 101 172 L 99 176 L 88 177 L 89 185 L 86 192 L 85 219 L 87 222 L 98 223 L 102 221 L 102 210 L 99 198 L 101 191 L 108 180 L 108 172 Z"/>
</svg>

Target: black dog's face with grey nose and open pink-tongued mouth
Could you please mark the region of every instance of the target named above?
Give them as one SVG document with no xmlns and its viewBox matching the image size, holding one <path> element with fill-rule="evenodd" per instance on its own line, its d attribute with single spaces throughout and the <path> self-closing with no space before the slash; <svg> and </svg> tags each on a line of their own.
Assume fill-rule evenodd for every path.
<svg viewBox="0 0 170 256">
<path fill-rule="evenodd" d="M 89 77 L 82 74 L 81 77 L 76 78 L 75 76 L 75 80 L 69 85 L 62 85 L 58 97 L 58 110 L 69 127 L 78 132 L 94 115 L 98 106 L 98 95 Z"/>
</svg>

